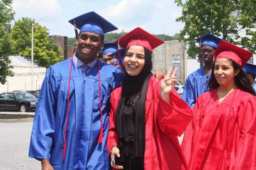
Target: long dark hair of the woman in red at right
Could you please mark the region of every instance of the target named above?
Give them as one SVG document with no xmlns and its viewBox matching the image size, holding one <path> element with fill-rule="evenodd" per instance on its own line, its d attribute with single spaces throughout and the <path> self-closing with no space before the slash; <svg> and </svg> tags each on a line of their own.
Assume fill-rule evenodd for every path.
<svg viewBox="0 0 256 170">
<path fill-rule="evenodd" d="M 251 86 L 250 80 L 247 77 L 247 75 L 245 74 L 245 72 L 242 70 L 242 68 L 235 61 L 233 61 L 231 59 L 228 59 L 228 60 L 230 62 L 232 62 L 234 70 L 237 70 L 237 69 L 240 70 L 239 74 L 235 76 L 235 84 L 236 84 L 236 86 L 238 86 L 240 89 L 242 89 L 242 90 L 244 90 L 244 91 L 246 91 L 246 92 L 256 96 L 256 93 L 255 93 L 254 89 Z M 209 80 L 209 84 L 208 84 L 208 90 L 209 91 L 219 87 L 219 83 L 217 82 L 217 80 L 216 80 L 216 78 L 214 76 L 215 61 L 213 62 L 212 74 L 211 74 L 211 77 L 210 77 L 210 80 Z"/>
</svg>

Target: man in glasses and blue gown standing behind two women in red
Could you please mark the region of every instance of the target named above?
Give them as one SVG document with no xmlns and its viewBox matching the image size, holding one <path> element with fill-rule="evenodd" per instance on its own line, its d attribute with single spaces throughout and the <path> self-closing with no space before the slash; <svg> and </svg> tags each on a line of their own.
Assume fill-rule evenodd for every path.
<svg viewBox="0 0 256 170">
<path fill-rule="evenodd" d="M 206 34 L 196 39 L 200 43 L 199 61 L 204 66 L 188 75 L 182 99 L 193 109 L 197 98 L 208 91 L 208 81 L 212 72 L 212 57 L 214 51 L 222 39 L 212 34 Z"/>
</svg>

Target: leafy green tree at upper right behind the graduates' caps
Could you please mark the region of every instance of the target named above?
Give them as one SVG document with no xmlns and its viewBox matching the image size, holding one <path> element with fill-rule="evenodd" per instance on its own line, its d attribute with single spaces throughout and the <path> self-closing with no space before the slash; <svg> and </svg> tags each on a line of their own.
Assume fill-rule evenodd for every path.
<svg viewBox="0 0 256 170">
<path fill-rule="evenodd" d="M 236 45 L 255 52 L 256 32 L 256 3 L 255 0 L 175 0 L 177 6 L 182 7 L 182 16 L 176 21 L 185 23 L 178 36 L 190 44 L 188 54 L 198 53 L 198 46 L 194 44 L 197 37 L 213 33 Z M 252 39 L 241 38 L 238 34 L 241 29 L 247 28 L 246 34 Z M 239 39 L 241 38 L 241 41 Z"/>
</svg>

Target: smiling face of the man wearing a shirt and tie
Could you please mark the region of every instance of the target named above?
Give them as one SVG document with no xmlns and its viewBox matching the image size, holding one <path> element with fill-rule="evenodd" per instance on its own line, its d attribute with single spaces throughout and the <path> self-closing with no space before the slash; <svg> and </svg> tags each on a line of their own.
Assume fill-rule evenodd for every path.
<svg viewBox="0 0 256 170">
<path fill-rule="evenodd" d="M 97 53 L 104 47 L 103 38 L 97 33 L 82 32 L 76 43 L 78 58 L 85 64 L 94 61 Z"/>
</svg>

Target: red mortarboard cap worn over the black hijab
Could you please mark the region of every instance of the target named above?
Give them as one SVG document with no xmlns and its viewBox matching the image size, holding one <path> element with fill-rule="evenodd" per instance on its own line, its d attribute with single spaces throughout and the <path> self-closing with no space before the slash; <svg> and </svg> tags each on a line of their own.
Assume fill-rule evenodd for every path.
<svg viewBox="0 0 256 170">
<path fill-rule="evenodd" d="M 115 43 L 118 44 L 118 40 Z M 119 38 L 119 45 L 125 49 L 131 45 L 137 45 L 147 48 L 151 53 L 161 44 L 164 44 L 164 41 L 139 27 Z"/>
</svg>

